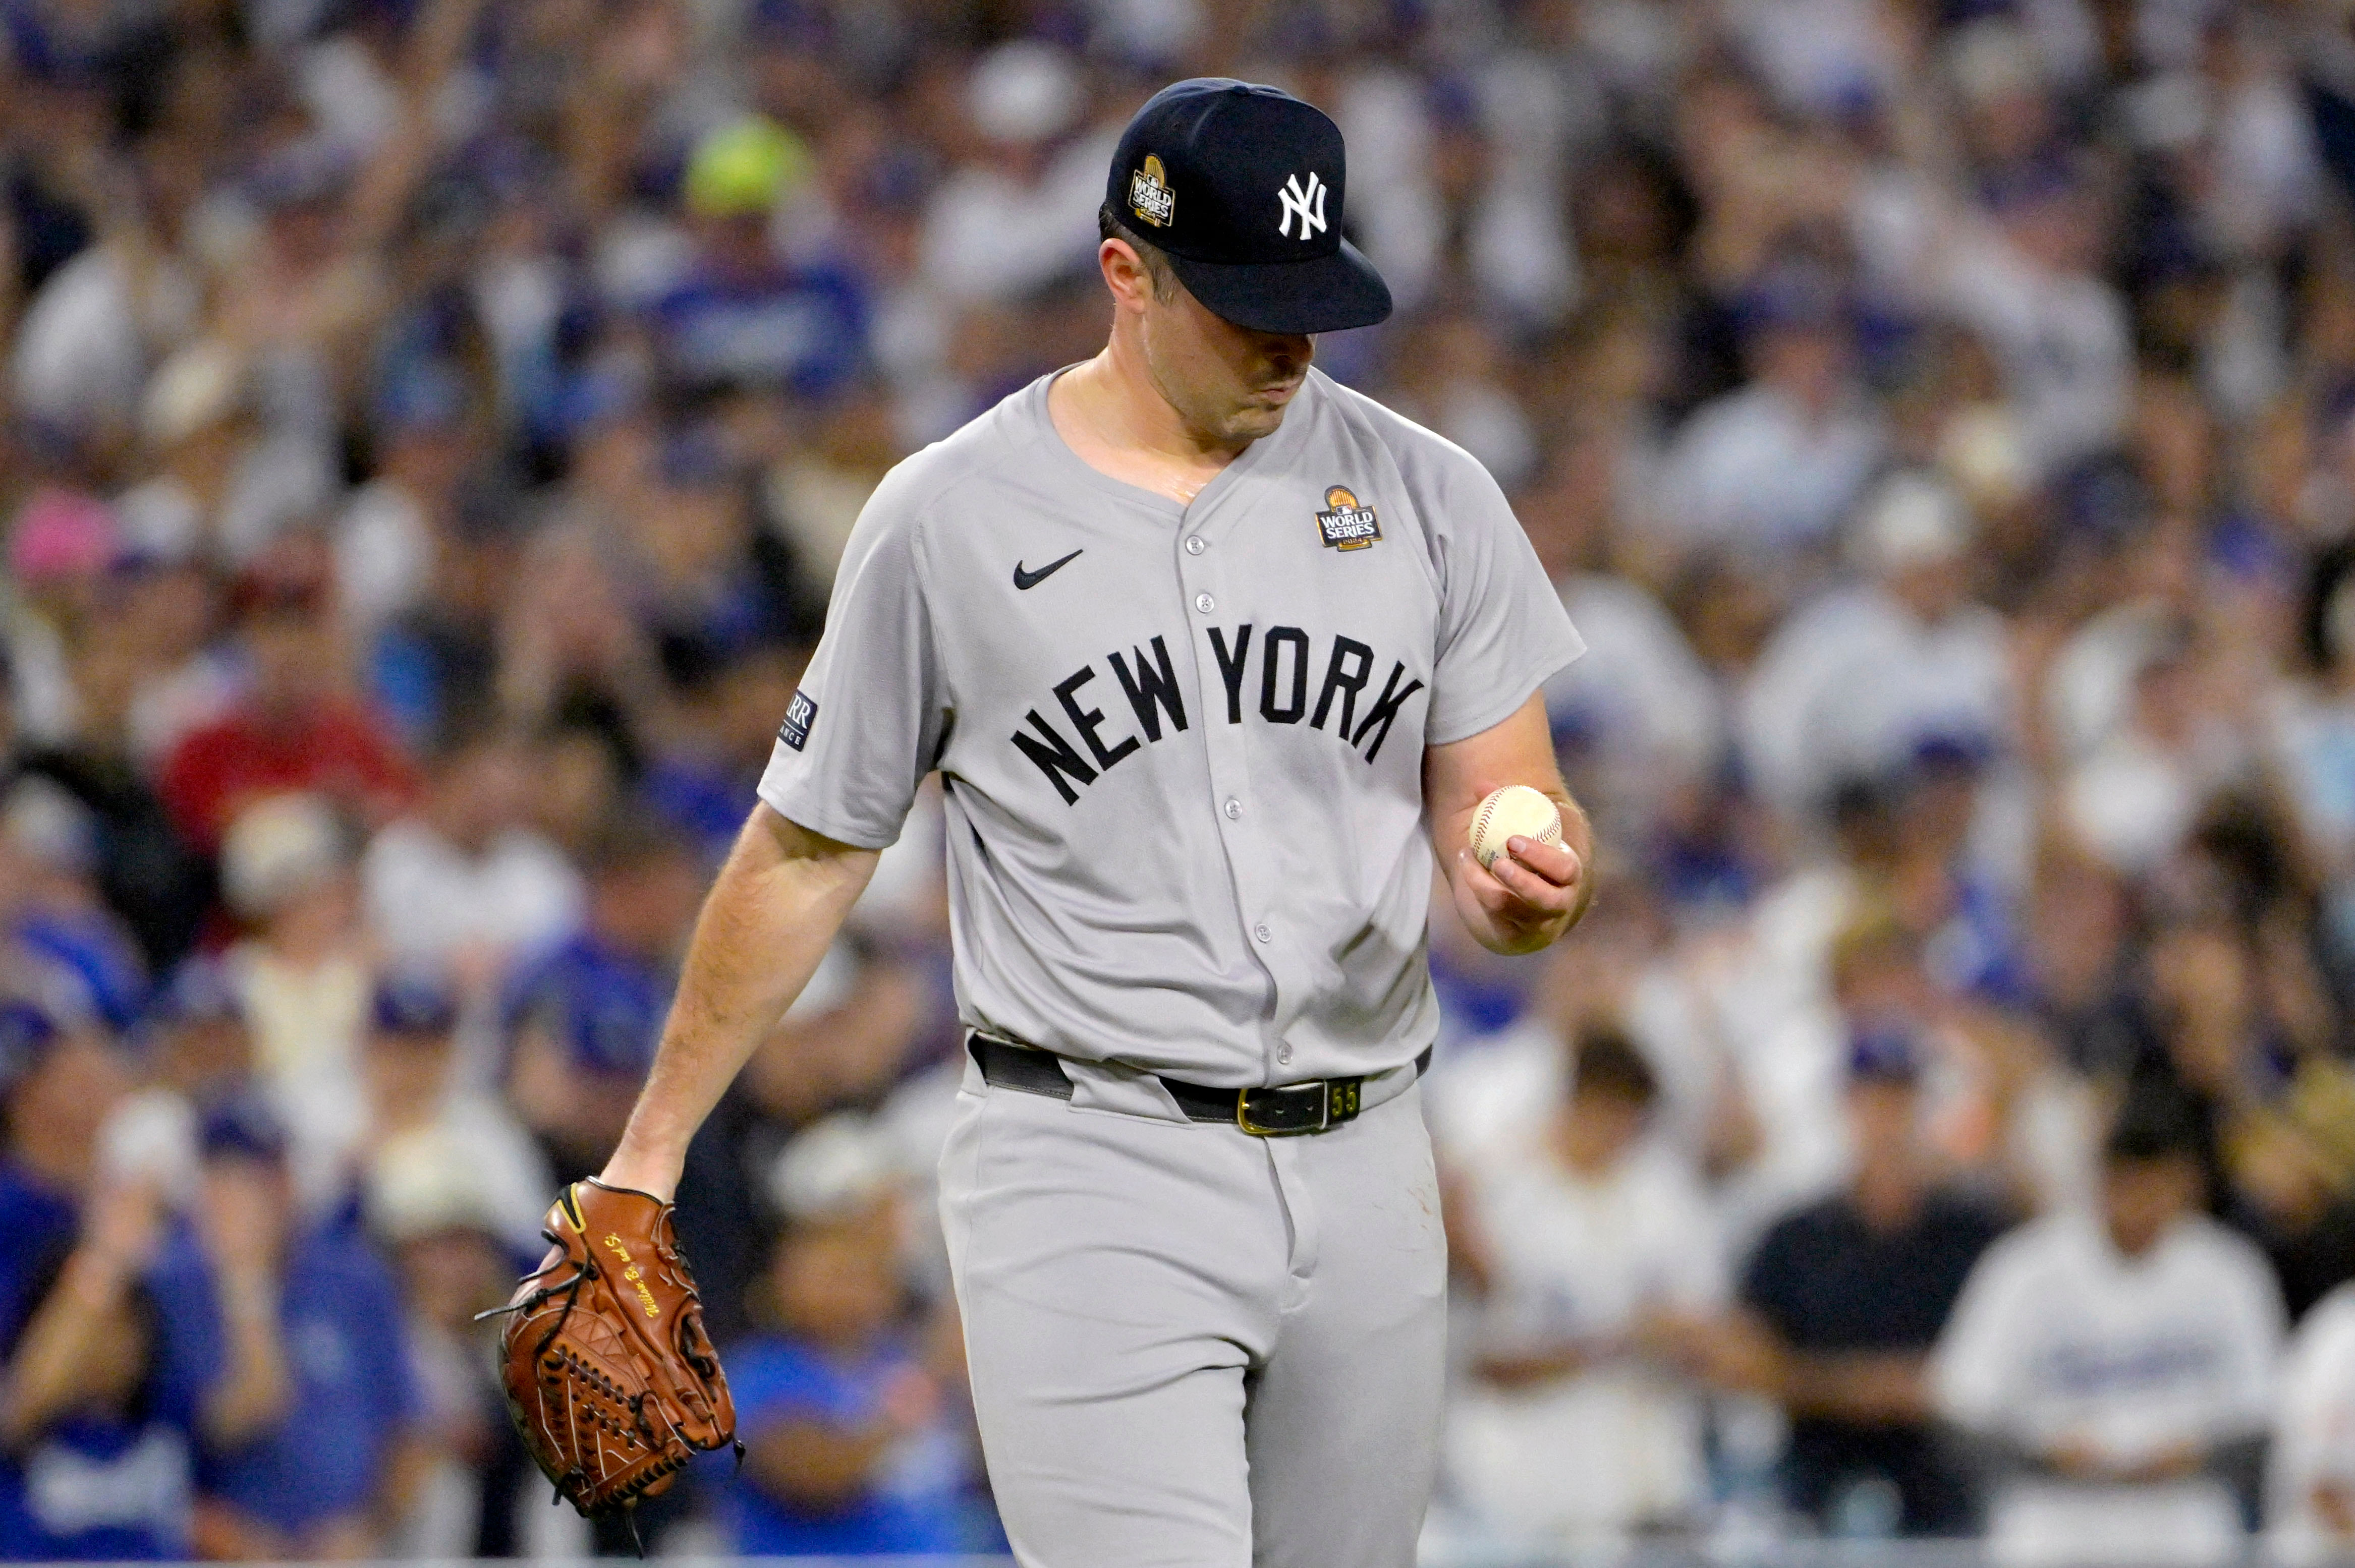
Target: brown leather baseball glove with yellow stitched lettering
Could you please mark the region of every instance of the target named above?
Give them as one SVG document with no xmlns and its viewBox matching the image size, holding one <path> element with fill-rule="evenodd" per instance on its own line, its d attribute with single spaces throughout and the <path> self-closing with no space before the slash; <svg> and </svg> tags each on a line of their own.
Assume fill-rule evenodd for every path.
<svg viewBox="0 0 2355 1568">
<path fill-rule="evenodd" d="M 544 1234 L 556 1250 L 497 1309 L 506 1410 L 558 1495 L 593 1519 L 735 1443 L 735 1401 L 669 1203 L 575 1182 Z"/>
</svg>

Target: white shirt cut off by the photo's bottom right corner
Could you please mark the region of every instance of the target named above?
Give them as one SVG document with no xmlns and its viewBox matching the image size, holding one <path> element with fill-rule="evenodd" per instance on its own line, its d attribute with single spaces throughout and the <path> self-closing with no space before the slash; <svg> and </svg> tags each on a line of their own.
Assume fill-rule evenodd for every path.
<svg viewBox="0 0 2355 1568">
<path fill-rule="evenodd" d="M 2266 1523 L 2282 1563 L 2346 1561 L 2355 1549 L 2315 1507 L 2324 1486 L 2355 1502 L 2355 1285 L 2306 1314 L 2282 1363 L 2266 1474 Z"/>
</svg>

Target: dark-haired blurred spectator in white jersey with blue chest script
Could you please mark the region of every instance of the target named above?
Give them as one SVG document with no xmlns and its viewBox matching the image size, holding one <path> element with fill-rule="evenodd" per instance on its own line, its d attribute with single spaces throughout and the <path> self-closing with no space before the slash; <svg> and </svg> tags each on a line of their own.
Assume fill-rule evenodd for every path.
<svg viewBox="0 0 2355 1568">
<path fill-rule="evenodd" d="M 1997 1467 L 1990 1549 L 2021 1563 L 2207 1563 L 2240 1549 L 2282 1300 L 2200 1212 L 2200 1116 L 2167 1088 L 2110 1128 L 2101 1208 L 1978 1262 L 1938 1342 L 1938 1410 Z"/>
</svg>

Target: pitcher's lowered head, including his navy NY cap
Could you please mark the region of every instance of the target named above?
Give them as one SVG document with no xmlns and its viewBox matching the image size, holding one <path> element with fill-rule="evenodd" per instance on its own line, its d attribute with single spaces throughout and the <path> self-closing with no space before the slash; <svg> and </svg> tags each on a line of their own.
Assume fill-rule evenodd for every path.
<svg viewBox="0 0 2355 1568">
<path fill-rule="evenodd" d="M 1389 315 L 1340 238 L 1345 188 L 1340 127 L 1276 87 L 1173 82 L 1121 134 L 1097 219 L 1112 356 L 1206 445 L 1274 431 L 1314 337 Z"/>
</svg>

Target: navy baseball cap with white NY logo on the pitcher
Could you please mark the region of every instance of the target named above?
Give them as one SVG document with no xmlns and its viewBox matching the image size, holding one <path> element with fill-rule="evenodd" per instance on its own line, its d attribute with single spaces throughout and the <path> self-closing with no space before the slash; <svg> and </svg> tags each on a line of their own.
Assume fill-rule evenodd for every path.
<svg viewBox="0 0 2355 1568">
<path fill-rule="evenodd" d="M 1168 252 L 1213 315 L 1253 332 L 1342 332 L 1389 315 L 1389 285 L 1340 238 L 1340 127 L 1276 87 L 1218 75 L 1147 99 L 1104 205 Z"/>
</svg>

